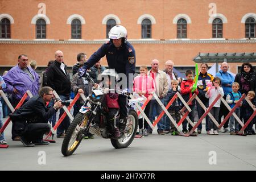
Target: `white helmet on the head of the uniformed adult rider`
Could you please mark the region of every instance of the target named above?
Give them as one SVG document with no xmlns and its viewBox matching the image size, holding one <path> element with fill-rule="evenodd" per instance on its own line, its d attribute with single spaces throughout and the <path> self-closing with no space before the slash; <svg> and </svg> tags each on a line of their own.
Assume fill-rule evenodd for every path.
<svg viewBox="0 0 256 182">
<path fill-rule="evenodd" d="M 116 25 L 112 27 L 109 31 L 109 39 L 112 42 L 112 39 L 123 38 L 123 43 L 126 43 L 127 40 L 127 30 L 121 25 Z"/>
</svg>

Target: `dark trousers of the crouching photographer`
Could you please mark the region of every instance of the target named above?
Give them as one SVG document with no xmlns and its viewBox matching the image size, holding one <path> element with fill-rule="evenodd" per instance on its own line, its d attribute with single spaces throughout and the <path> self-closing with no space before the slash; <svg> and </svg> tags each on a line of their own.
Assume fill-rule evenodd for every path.
<svg viewBox="0 0 256 182">
<path fill-rule="evenodd" d="M 24 137 L 28 142 L 43 140 L 44 133 L 49 133 L 50 130 L 51 125 L 48 123 L 30 123 L 26 126 L 21 137 Z"/>
</svg>

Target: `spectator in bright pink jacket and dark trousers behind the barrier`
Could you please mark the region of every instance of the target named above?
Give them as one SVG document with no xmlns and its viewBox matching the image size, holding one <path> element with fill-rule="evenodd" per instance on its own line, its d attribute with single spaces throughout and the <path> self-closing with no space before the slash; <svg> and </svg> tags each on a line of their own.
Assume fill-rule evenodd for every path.
<svg viewBox="0 0 256 182">
<path fill-rule="evenodd" d="M 141 68 L 139 68 L 140 75 L 134 78 L 133 81 L 133 91 L 135 93 L 138 93 L 139 96 L 145 96 L 148 98 L 148 96 L 155 91 L 155 83 L 152 77 L 147 76 L 147 66 L 142 65 Z M 150 102 L 148 102 L 144 113 L 149 117 L 149 110 L 150 110 Z M 142 125 L 143 119 L 139 119 L 139 134 L 143 134 L 144 136 L 147 136 L 147 127 L 148 123 L 146 119 L 144 119 L 144 132 L 143 132 L 143 125 Z"/>
</svg>

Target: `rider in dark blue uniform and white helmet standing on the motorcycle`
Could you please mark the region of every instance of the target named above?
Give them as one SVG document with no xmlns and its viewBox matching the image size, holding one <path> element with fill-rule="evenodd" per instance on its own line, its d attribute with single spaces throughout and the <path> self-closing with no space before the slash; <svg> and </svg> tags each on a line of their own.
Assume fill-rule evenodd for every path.
<svg viewBox="0 0 256 182">
<path fill-rule="evenodd" d="M 80 69 L 79 75 L 82 76 L 87 69 L 92 67 L 101 57 L 106 56 L 110 69 L 115 69 L 117 73 L 126 75 L 127 85 L 123 85 L 123 90 L 132 90 L 133 75 L 135 73 L 135 50 L 129 42 L 127 42 L 127 30 L 125 27 L 117 25 L 109 31 L 110 41 L 103 44 L 98 51 L 90 56 L 89 60 L 84 63 Z M 130 77 L 129 77 L 130 75 Z M 130 88 L 131 87 L 131 88 Z M 118 103 L 120 106 L 119 130 L 123 131 L 127 122 L 127 97 L 119 95 Z"/>
</svg>

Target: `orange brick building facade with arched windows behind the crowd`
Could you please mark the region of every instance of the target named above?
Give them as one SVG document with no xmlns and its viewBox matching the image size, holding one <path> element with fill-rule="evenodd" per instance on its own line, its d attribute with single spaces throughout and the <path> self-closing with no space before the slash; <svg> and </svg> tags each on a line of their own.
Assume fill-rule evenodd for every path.
<svg viewBox="0 0 256 182">
<path fill-rule="evenodd" d="M 113 22 L 127 28 L 137 67 L 158 59 L 163 69 L 171 59 L 184 72 L 199 52 L 255 52 L 255 5 L 256 0 L 1 0 L 1 73 L 21 53 L 36 60 L 40 71 L 57 49 L 71 67 L 77 53 L 90 56 L 108 40 L 106 28 Z M 230 63 L 230 71 L 237 73 L 241 64 Z"/>
</svg>

